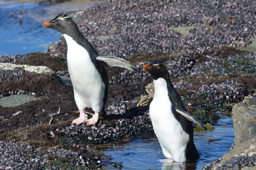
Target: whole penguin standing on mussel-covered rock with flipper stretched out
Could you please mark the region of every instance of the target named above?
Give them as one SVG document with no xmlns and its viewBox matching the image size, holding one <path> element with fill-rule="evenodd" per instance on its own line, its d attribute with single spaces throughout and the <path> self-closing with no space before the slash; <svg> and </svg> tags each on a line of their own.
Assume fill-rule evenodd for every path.
<svg viewBox="0 0 256 170">
<path fill-rule="evenodd" d="M 68 72 L 74 88 L 74 97 L 79 109 L 79 118 L 71 124 L 96 124 L 100 114 L 106 114 L 104 107 L 108 96 L 108 76 L 105 67 L 124 67 L 135 71 L 128 61 L 112 56 L 99 56 L 92 44 L 84 38 L 73 21 L 73 15 L 61 13 L 42 26 L 63 34 L 67 41 Z M 91 119 L 85 108 L 92 108 L 95 114 Z"/>
</svg>

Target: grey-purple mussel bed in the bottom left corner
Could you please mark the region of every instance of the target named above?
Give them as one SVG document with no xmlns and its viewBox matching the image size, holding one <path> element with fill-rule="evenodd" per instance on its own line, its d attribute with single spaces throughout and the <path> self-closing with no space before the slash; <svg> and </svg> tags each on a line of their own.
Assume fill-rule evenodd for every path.
<svg viewBox="0 0 256 170">
<path fill-rule="evenodd" d="M 26 144 L 11 141 L 0 142 L 0 169 L 59 169 L 58 164 L 72 164 L 72 168 L 79 169 L 80 165 L 88 169 L 97 169 L 100 166 L 97 157 L 91 159 L 83 153 L 64 148 L 48 149 L 37 148 Z M 65 159 L 63 159 L 65 158 Z M 84 160 L 87 159 L 85 162 Z M 56 162 L 56 164 L 54 163 Z M 59 163 L 58 163 L 59 162 Z M 76 166 L 77 165 L 77 166 Z"/>
</svg>

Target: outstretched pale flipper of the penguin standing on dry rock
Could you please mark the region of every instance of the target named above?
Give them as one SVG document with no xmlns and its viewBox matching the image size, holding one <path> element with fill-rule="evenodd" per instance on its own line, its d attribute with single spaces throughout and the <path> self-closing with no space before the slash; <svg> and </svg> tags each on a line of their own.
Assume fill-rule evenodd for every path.
<svg viewBox="0 0 256 170">
<path fill-rule="evenodd" d="M 128 70 L 135 71 L 136 68 L 128 61 L 121 59 L 119 57 L 113 56 L 96 56 L 96 61 L 102 67 L 124 67 Z"/>
</svg>

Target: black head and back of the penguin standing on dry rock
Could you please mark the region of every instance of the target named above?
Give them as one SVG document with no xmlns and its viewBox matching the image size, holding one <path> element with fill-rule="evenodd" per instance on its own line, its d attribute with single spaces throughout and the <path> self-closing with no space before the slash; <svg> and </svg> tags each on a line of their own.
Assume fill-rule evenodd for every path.
<svg viewBox="0 0 256 170">
<path fill-rule="evenodd" d="M 73 40 L 76 41 L 77 44 L 84 47 L 89 53 L 92 63 L 99 71 L 101 79 L 105 84 L 105 93 L 103 97 L 103 108 L 101 114 L 106 114 L 104 108 L 108 97 L 108 76 L 105 67 L 100 66 L 96 61 L 95 56 L 99 56 L 99 54 L 93 48 L 92 44 L 87 39 L 85 39 L 83 34 L 79 31 L 76 23 L 73 21 L 72 15 L 61 13 L 54 19 L 49 21 L 49 23 L 51 23 L 51 25 L 48 26 L 49 28 L 52 28 L 62 34 L 67 34 L 68 36 L 73 38 Z"/>
</svg>

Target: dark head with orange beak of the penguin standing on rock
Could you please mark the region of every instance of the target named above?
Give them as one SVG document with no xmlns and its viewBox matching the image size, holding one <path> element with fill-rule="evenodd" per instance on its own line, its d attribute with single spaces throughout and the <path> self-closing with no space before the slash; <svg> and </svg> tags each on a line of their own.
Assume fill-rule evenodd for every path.
<svg viewBox="0 0 256 170">
<path fill-rule="evenodd" d="M 70 35 L 74 30 L 78 30 L 72 16 L 73 14 L 61 13 L 51 21 L 45 22 L 42 26 L 52 28 L 62 34 Z"/>
</svg>

